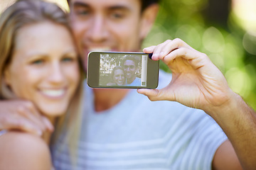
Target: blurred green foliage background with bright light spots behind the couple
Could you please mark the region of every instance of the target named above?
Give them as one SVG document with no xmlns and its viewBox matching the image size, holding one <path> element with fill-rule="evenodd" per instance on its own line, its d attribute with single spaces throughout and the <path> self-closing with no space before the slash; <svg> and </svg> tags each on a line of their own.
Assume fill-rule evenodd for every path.
<svg viewBox="0 0 256 170">
<path fill-rule="evenodd" d="M 13 0 L 0 0 L 0 11 Z M 68 11 L 65 0 L 48 0 Z M 204 52 L 256 110 L 256 0 L 161 0 L 143 47 L 181 38 Z M 161 63 L 161 68 L 168 71 Z"/>
</svg>

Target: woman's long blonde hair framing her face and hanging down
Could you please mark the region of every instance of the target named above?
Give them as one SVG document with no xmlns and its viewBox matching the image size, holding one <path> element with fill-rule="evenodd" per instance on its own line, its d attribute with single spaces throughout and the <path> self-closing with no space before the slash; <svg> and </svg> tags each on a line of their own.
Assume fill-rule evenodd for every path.
<svg viewBox="0 0 256 170">
<path fill-rule="evenodd" d="M 57 5 L 41 0 L 19 0 L 4 11 L 0 16 L 0 99 L 15 98 L 4 82 L 4 69 L 11 62 L 16 45 L 16 35 L 23 26 L 42 21 L 51 21 L 65 26 L 72 34 L 68 24 L 68 16 Z M 70 102 L 66 114 L 61 115 L 55 125 L 55 135 L 52 144 L 56 142 L 64 125 L 67 125 L 65 141 L 71 150 L 78 145 L 82 113 L 82 67 L 80 67 L 80 85 Z M 73 152 L 72 156 L 76 153 Z M 71 152 L 72 153 L 72 152 Z M 76 158 L 76 157 L 75 157 Z M 73 162 L 75 160 L 73 159 Z"/>
</svg>

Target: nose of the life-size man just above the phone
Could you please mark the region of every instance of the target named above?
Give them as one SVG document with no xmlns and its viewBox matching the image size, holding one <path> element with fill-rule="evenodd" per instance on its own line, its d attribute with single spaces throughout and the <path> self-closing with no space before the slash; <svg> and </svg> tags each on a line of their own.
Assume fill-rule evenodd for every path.
<svg viewBox="0 0 256 170">
<path fill-rule="evenodd" d="M 89 29 L 88 38 L 92 42 L 103 42 L 107 39 L 107 26 L 105 25 L 104 16 L 95 16 Z"/>
</svg>

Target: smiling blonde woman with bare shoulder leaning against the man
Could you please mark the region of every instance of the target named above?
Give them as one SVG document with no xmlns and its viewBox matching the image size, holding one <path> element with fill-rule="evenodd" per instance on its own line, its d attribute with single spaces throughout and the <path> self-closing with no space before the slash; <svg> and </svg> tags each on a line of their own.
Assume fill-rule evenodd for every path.
<svg viewBox="0 0 256 170">
<path fill-rule="evenodd" d="M 21 0 L 0 16 L 0 98 L 31 101 L 74 145 L 80 125 L 81 69 L 66 14 L 55 4 Z M 79 129 L 79 128 L 78 128 Z M 53 169 L 50 132 L 1 131 L 0 169 Z"/>
</svg>

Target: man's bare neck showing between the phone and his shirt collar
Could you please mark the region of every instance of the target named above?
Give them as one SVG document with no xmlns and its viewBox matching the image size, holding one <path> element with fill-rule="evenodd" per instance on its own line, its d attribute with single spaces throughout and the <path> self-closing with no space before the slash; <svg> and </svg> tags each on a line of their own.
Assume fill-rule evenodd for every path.
<svg viewBox="0 0 256 170">
<path fill-rule="evenodd" d="M 95 111 L 105 111 L 115 106 L 127 95 L 129 89 L 93 89 Z"/>
</svg>

